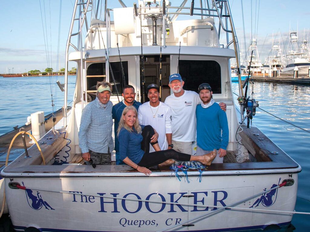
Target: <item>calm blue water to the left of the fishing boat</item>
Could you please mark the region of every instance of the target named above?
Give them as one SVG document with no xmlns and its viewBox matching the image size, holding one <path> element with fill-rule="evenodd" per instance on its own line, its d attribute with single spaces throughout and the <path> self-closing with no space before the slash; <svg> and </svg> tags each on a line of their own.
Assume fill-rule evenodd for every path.
<svg viewBox="0 0 310 232">
<path fill-rule="evenodd" d="M 64 76 L 0 77 L 0 135 L 12 131 L 17 125 L 23 126 L 27 117 L 34 112 L 44 111 L 45 115 L 52 113 L 50 86 L 54 108 L 60 109 L 64 105 L 64 92 L 57 86 L 57 79 L 64 83 Z M 75 75 L 68 77 L 68 103 L 73 99 L 75 79 Z"/>
</svg>

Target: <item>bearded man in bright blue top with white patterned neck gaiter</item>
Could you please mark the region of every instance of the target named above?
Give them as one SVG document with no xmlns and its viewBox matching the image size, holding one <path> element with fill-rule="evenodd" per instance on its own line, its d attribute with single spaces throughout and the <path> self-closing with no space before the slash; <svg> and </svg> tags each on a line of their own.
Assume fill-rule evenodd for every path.
<svg viewBox="0 0 310 232">
<path fill-rule="evenodd" d="M 199 85 L 198 93 L 202 102 L 196 108 L 197 155 L 206 154 L 215 148 L 219 155 L 215 157 L 213 163 L 223 163 L 229 135 L 227 116 L 219 104 L 214 102 L 209 84 Z"/>
</svg>

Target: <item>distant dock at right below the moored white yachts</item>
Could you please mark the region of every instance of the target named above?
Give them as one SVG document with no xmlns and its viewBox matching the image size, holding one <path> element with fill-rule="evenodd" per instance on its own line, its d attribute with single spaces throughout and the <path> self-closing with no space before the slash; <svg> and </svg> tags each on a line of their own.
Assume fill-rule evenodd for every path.
<svg viewBox="0 0 310 232">
<path fill-rule="evenodd" d="M 294 78 L 293 74 L 280 74 L 277 77 L 268 77 L 268 75 L 258 73 L 254 74 L 251 79 L 255 81 L 267 81 L 267 82 L 278 82 L 278 83 L 289 83 L 289 84 L 310 84 L 309 75 L 299 75 L 298 78 Z"/>
</svg>

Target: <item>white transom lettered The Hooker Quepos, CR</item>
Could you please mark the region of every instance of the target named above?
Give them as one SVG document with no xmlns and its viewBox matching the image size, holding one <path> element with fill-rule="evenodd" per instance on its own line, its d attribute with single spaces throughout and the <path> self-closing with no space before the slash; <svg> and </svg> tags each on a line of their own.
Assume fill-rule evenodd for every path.
<svg viewBox="0 0 310 232">
<path fill-rule="evenodd" d="M 197 176 L 189 177 L 190 183 L 187 183 L 184 177 L 179 181 L 174 174 L 171 177 L 139 178 L 14 178 L 14 182 L 33 189 L 32 193 L 6 188 L 6 194 L 15 195 L 7 203 L 12 223 L 15 229 L 21 231 L 28 227 L 40 231 L 158 231 L 213 210 L 212 207 L 172 205 L 162 201 L 227 206 L 270 189 L 288 178 L 294 179 L 293 186 L 281 187 L 276 192 L 259 195 L 235 207 L 250 209 L 254 205 L 254 209 L 294 211 L 297 173 L 203 176 L 201 183 Z M 9 182 L 10 179 L 6 178 L 6 185 Z M 70 191 L 71 194 L 61 191 Z M 181 197 L 183 195 L 192 197 Z M 288 226 L 292 216 L 292 213 L 225 209 L 186 223 L 194 226 L 179 226 L 174 230 L 249 230 L 272 224 L 281 227 Z"/>
</svg>

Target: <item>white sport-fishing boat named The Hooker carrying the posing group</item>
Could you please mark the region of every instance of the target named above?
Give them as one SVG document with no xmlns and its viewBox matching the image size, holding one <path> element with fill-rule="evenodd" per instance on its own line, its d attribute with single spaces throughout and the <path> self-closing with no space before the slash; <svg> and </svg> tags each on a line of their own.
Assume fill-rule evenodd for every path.
<svg viewBox="0 0 310 232">
<path fill-rule="evenodd" d="M 179 6 L 170 1 L 140 1 L 131 6 L 119 2 L 119 8 L 109 9 L 107 1 L 75 1 L 66 47 L 64 118 L 55 131 L 38 140 L 40 150 L 32 146 L 28 155 L 1 171 L 14 229 L 288 227 L 301 167 L 250 124 L 258 103 L 241 86 L 238 41 L 228 1 L 207 1 L 206 6 L 201 1 L 200 6 L 194 1 L 187 6 L 186 0 Z M 177 20 L 178 16 L 182 19 Z M 82 27 L 87 28 L 85 40 Z M 227 35 L 225 41 L 219 40 L 220 33 Z M 73 36 L 79 37 L 78 44 L 71 40 Z M 69 54 L 70 46 L 76 51 Z M 232 92 L 230 58 L 236 58 L 239 69 L 239 105 Z M 72 109 L 67 112 L 69 61 L 77 62 L 78 71 Z M 177 72 L 185 80 L 184 89 L 197 91 L 206 82 L 212 86 L 214 100 L 226 103 L 229 159 L 204 168 L 155 167 L 150 175 L 127 165 L 82 165 L 78 130 L 83 108 L 95 99 L 97 81 L 113 83 L 110 100 L 114 103 L 124 84 L 134 86 L 136 100 L 144 102 L 145 86 L 156 83 L 164 101 L 172 93 L 169 75 Z"/>
</svg>

